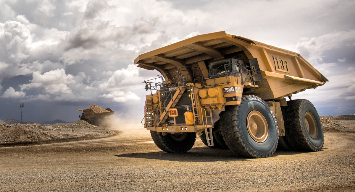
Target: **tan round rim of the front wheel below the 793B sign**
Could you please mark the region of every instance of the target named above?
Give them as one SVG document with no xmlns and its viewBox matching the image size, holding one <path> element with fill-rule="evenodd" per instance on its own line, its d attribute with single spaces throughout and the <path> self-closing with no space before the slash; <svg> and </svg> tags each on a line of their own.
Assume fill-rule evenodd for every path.
<svg viewBox="0 0 355 192">
<path fill-rule="evenodd" d="M 247 128 L 251 138 L 259 143 L 264 142 L 269 135 L 269 127 L 263 114 L 258 111 L 251 111 L 246 120 Z"/>
</svg>

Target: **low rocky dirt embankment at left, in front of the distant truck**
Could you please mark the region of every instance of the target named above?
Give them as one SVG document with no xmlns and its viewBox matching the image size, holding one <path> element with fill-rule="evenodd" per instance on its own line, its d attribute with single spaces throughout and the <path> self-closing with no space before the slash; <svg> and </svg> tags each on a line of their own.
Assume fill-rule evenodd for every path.
<svg viewBox="0 0 355 192">
<path fill-rule="evenodd" d="M 0 145 L 36 143 L 67 139 L 95 139 L 114 135 L 105 127 L 97 127 L 83 120 L 70 124 L 10 124 L 0 125 Z"/>
</svg>

